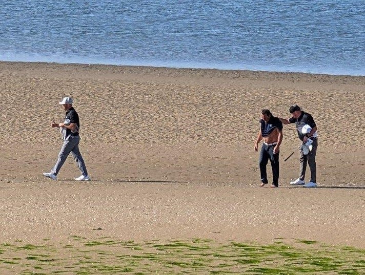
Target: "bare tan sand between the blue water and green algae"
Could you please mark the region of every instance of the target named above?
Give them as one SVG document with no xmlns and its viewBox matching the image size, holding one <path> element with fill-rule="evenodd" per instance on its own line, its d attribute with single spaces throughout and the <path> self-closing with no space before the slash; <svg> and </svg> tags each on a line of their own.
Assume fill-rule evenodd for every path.
<svg viewBox="0 0 365 275">
<path fill-rule="evenodd" d="M 0 62 L 0 242 L 314 240 L 365 248 L 365 77 Z M 91 182 L 71 157 L 43 177 L 74 99 Z M 259 187 L 260 111 L 317 122 L 317 188 L 292 187 L 299 142 L 285 125 L 280 187 Z M 271 168 L 268 165 L 269 180 Z M 307 173 L 309 179 L 309 171 Z M 102 228 L 102 230 L 95 230 Z"/>
</svg>

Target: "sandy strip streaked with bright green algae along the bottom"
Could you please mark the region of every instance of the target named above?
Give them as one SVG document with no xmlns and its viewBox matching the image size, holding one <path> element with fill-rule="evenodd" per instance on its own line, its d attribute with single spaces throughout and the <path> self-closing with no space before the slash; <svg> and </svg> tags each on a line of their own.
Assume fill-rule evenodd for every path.
<svg viewBox="0 0 365 275">
<path fill-rule="evenodd" d="M 365 250 L 310 240 L 286 244 L 214 240 L 113 240 L 70 236 L 65 243 L 0 244 L 0 273 L 18 274 L 353 274 Z"/>
</svg>

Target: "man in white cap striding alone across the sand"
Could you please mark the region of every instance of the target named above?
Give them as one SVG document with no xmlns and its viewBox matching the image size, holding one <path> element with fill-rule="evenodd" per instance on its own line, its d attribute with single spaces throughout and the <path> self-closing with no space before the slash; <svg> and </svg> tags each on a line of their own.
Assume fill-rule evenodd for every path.
<svg viewBox="0 0 365 275">
<path fill-rule="evenodd" d="M 64 97 L 64 99 L 59 102 L 59 104 L 63 105 L 66 111 L 65 120 L 64 122 L 60 123 L 52 121 L 51 126 L 52 128 L 60 128 L 64 144 L 62 145 L 61 151 L 58 154 L 57 162 L 52 168 L 51 172 L 43 173 L 43 175 L 52 180 L 56 180 L 60 168 L 65 163 L 68 155 L 71 153 L 82 173 L 82 175 L 77 177 L 76 180 L 90 180 L 83 156 L 78 149 L 78 143 L 80 142 L 80 136 L 78 134 L 80 121 L 78 119 L 77 112 L 72 107 L 72 98 Z"/>
</svg>

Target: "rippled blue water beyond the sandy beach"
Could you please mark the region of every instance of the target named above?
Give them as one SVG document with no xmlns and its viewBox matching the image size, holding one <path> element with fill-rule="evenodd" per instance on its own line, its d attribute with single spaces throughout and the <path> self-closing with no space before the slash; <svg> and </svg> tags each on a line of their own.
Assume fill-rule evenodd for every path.
<svg viewBox="0 0 365 275">
<path fill-rule="evenodd" d="M 365 75 L 365 1 L 1 1 L 0 60 Z"/>
</svg>

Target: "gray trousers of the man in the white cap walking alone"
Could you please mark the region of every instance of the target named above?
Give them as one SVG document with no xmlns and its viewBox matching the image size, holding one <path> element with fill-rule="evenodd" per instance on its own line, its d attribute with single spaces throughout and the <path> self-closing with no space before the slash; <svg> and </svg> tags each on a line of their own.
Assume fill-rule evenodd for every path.
<svg viewBox="0 0 365 275">
<path fill-rule="evenodd" d="M 61 151 L 58 154 L 58 159 L 56 164 L 51 170 L 51 173 L 57 175 L 62 165 L 65 163 L 68 155 L 71 153 L 72 157 L 77 163 L 78 168 L 81 173 L 86 177 L 88 175 L 88 171 L 86 170 L 85 162 L 83 156 L 78 150 L 78 143 L 80 142 L 79 136 L 68 136 L 64 144 L 62 145 Z"/>
</svg>

